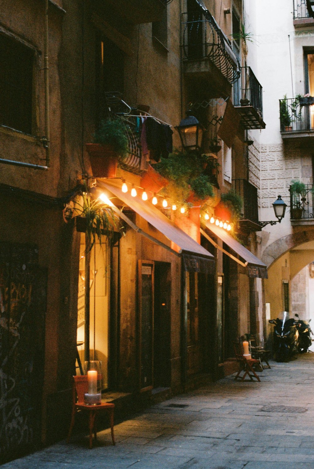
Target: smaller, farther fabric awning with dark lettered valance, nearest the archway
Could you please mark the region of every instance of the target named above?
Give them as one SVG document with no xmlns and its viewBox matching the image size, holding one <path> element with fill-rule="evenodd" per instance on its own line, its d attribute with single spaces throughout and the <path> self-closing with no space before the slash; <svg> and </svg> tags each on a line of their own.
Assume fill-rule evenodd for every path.
<svg viewBox="0 0 314 469">
<path fill-rule="evenodd" d="M 244 259 L 244 265 L 247 268 L 248 276 L 251 278 L 268 279 L 267 266 L 258 257 L 254 256 L 247 248 L 236 241 L 224 228 L 220 228 L 214 223 L 206 222 L 206 227 L 218 236 L 229 248 Z M 226 253 L 228 254 L 228 253 Z M 234 257 L 233 257 L 234 258 Z M 237 259 L 234 259 L 237 261 Z M 243 265 L 243 262 L 239 262 Z"/>
</svg>

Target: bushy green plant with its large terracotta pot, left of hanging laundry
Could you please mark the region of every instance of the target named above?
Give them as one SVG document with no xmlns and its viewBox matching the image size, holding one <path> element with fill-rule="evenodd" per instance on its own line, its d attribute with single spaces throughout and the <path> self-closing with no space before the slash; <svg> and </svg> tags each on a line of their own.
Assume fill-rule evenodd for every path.
<svg viewBox="0 0 314 469">
<path fill-rule="evenodd" d="M 121 119 L 101 121 L 94 134 L 94 143 L 86 144 L 93 176 L 116 177 L 119 159 L 124 159 L 128 150 L 126 127 Z"/>
</svg>

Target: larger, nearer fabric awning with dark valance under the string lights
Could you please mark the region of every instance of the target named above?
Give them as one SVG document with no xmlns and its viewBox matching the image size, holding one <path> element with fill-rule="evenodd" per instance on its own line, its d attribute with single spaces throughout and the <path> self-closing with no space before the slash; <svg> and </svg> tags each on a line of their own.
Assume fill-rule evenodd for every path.
<svg viewBox="0 0 314 469">
<path fill-rule="evenodd" d="M 203 246 L 190 238 L 188 234 L 184 233 L 184 231 L 176 227 L 175 224 L 169 220 L 166 215 L 161 213 L 160 210 L 154 207 L 153 204 L 147 201 L 143 201 L 140 197 L 131 197 L 130 192 L 124 193 L 120 187 L 117 187 L 108 181 L 99 181 L 98 185 L 103 189 L 110 191 L 111 194 L 129 206 L 132 210 L 134 210 L 134 212 L 138 213 L 154 228 L 164 234 L 170 241 L 179 246 L 179 253 L 183 257 L 183 265 L 186 271 L 214 273 L 215 259 L 212 254 L 203 248 Z M 112 203 L 115 203 L 114 198 L 110 200 Z M 140 231 L 143 232 L 143 230 Z"/>
</svg>

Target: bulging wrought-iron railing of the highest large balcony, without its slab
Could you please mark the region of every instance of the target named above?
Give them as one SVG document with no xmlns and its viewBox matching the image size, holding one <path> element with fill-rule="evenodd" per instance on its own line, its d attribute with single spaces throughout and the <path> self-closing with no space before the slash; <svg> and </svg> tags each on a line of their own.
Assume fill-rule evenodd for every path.
<svg viewBox="0 0 314 469">
<path fill-rule="evenodd" d="M 240 65 L 231 43 L 210 12 L 201 5 L 196 11 L 182 16 L 183 60 L 210 60 L 228 80 L 234 83 L 240 76 Z"/>
</svg>

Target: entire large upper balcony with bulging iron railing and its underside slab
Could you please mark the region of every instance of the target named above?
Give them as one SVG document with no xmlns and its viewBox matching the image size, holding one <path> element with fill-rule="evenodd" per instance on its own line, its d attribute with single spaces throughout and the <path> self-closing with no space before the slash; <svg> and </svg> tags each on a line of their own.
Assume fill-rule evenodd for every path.
<svg viewBox="0 0 314 469">
<path fill-rule="evenodd" d="M 239 62 L 229 39 L 201 5 L 182 15 L 182 51 L 184 73 L 197 86 L 204 78 L 214 92 L 225 97 L 230 94 L 232 83 L 240 76 Z"/>
</svg>

